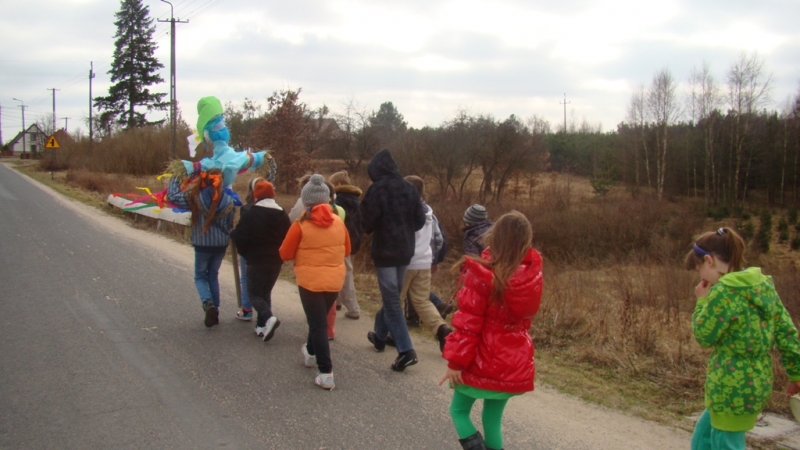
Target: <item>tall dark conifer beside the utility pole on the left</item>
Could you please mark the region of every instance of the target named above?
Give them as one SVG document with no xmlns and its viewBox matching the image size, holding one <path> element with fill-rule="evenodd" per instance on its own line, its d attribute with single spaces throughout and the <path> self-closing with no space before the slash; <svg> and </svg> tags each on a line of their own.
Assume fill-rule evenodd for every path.
<svg viewBox="0 0 800 450">
<path fill-rule="evenodd" d="M 117 33 L 114 35 L 114 62 L 108 74 L 115 83 L 107 97 L 95 97 L 95 107 L 113 115 L 115 122 L 125 128 L 141 127 L 163 122 L 148 122 L 137 106 L 147 111 L 167 109 L 168 103 L 161 99 L 165 93 L 152 93 L 149 86 L 163 83 L 158 70 L 164 67 L 154 53 L 157 45 L 153 41 L 155 26 L 150 10 L 142 0 L 122 0 L 120 10 L 114 16 Z"/>
</svg>

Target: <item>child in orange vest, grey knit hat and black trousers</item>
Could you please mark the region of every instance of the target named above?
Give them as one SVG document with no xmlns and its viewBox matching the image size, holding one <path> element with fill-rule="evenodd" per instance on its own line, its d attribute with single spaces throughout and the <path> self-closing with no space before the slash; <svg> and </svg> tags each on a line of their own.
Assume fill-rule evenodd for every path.
<svg viewBox="0 0 800 450">
<path fill-rule="evenodd" d="M 300 301 L 308 321 L 308 340 L 301 352 L 306 367 L 319 369 L 314 384 L 333 389 L 333 364 L 328 343 L 328 311 L 344 285 L 344 258 L 350 237 L 328 201 L 330 191 L 322 175 L 311 176 L 300 197 L 305 212 L 295 221 L 280 248 L 284 261 L 294 260 Z"/>
</svg>

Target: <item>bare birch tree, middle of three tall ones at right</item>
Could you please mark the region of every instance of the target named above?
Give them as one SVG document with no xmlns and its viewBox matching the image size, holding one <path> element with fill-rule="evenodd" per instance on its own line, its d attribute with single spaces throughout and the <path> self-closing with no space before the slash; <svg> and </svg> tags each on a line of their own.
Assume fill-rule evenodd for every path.
<svg viewBox="0 0 800 450">
<path fill-rule="evenodd" d="M 722 106 L 722 93 L 719 86 L 711 76 L 711 68 L 706 61 L 700 69 L 692 69 L 689 75 L 689 84 L 692 89 L 691 108 L 696 116 L 698 125 L 703 127 L 703 148 L 705 149 L 706 163 L 703 173 L 704 197 L 706 207 L 710 203 L 711 180 L 715 179 L 714 168 L 714 125 L 719 117 L 715 114 Z"/>
</svg>

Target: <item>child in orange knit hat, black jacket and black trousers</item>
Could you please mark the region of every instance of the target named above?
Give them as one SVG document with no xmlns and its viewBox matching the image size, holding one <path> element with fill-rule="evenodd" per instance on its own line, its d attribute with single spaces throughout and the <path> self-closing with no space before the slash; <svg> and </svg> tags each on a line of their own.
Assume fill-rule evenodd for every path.
<svg viewBox="0 0 800 450">
<path fill-rule="evenodd" d="M 272 288 L 283 265 L 278 250 L 291 223 L 286 212 L 275 203 L 275 189 L 269 181 L 255 181 L 253 198 L 256 203 L 242 212 L 231 237 L 247 261 L 247 294 L 258 313 L 255 333 L 266 342 L 281 324 L 272 315 Z"/>
</svg>

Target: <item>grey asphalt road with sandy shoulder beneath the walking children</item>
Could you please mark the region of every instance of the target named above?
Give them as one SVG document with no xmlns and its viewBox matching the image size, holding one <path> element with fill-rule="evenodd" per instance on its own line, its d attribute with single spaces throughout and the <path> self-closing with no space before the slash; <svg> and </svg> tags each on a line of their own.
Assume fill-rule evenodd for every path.
<svg viewBox="0 0 800 450">
<path fill-rule="evenodd" d="M 269 343 L 206 329 L 190 246 L 65 199 L 0 164 L 0 448 L 456 449 L 432 339 L 405 373 L 340 313 L 336 389 L 302 365 L 305 317 L 275 290 Z M 508 449 L 685 448 L 688 435 L 537 390 L 509 403 Z M 475 415 L 476 421 L 479 416 Z"/>
</svg>

